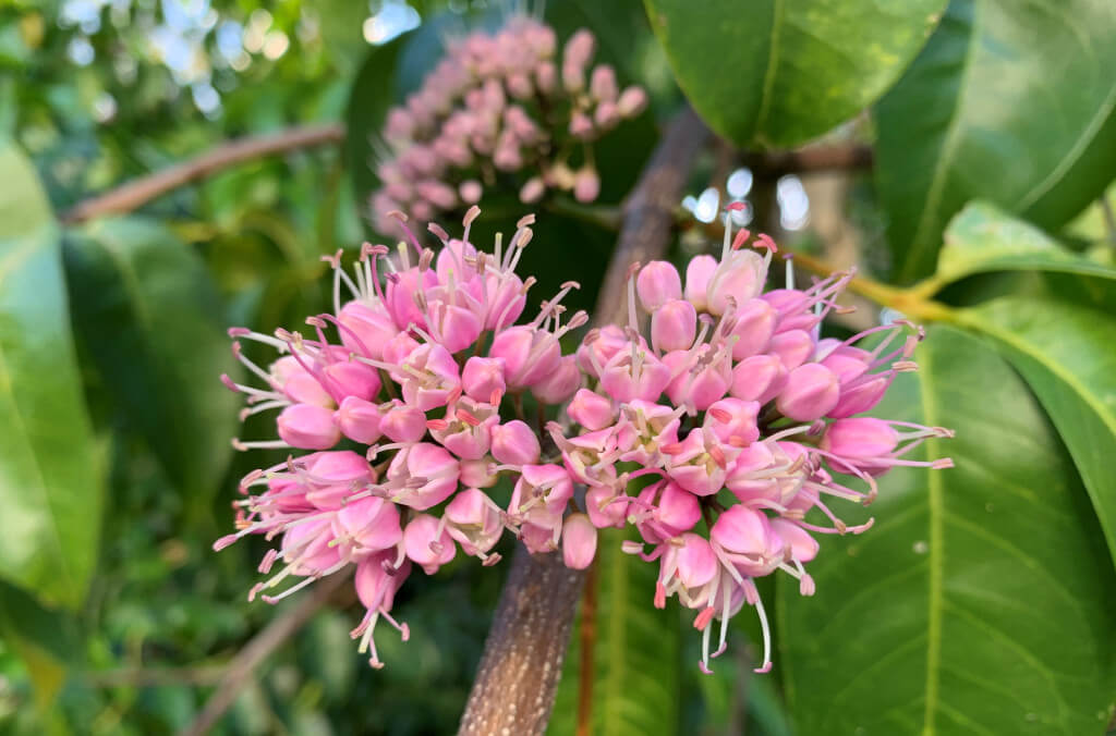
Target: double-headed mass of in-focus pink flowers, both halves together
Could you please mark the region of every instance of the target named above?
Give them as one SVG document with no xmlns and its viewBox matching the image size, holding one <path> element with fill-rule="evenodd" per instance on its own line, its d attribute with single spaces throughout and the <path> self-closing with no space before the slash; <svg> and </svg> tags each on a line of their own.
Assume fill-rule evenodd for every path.
<svg viewBox="0 0 1116 736">
<path fill-rule="evenodd" d="M 530 552 L 561 549 L 568 566 L 584 569 L 599 529 L 631 525 L 642 541 L 624 551 L 660 564 L 654 604 L 676 595 L 696 611 L 702 670 L 748 603 L 762 621 L 766 671 L 754 579 L 783 570 L 812 594 L 814 535 L 872 525 L 847 525 L 831 498 L 867 504 L 875 478 L 896 465 L 951 465 L 904 459 L 949 430 L 856 416 L 896 372 L 915 369 L 921 331 L 896 322 L 819 338 L 849 275 L 796 289 L 788 263 L 786 288 L 764 291 L 776 245 L 747 230 L 733 238 L 729 213 L 720 259 L 693 258 L 684 284 L 664 261 L 634 265 L 627 323 L 589 330 L 564 354 L 561 338 L 588 321 L 585 312 L 564 319 L 562 298 L 577 284 L 519 322 L 533 279 L 514 269 L 533 216 L 487 253 L 469 241 L 478 213 L 470 209 L 460 240 L 430 225 L 437 253 L 395 213 L 410 243 L 394 256 L 365 244 L 352 275 L 333 256 L 334 313 L 307 320 L 312 338 L 231 330 L 233 352 L 263 384 L 224 378 L 248 397 L 246 417 L 280 410 L 279 439 L 235 446 L 312 452 L 249 474 L 239 531 L 215 546 L 281 536 L 260 572 L 279 561 L 281 570 L 250 598 L 302 580 L 268 601 L 354 566 L 367 613 L 353 633 L 379 666 L 372 631 L 383 618 L 408 636 L 391 609 L 413 565 L 432 574 L 459 548 L 492 564 L 507 529 Z M 264 370 L 240 339 L 281 356 Z M 501 476 L 513 483 L 503 505 L 491 494 Z"/>
</svg>

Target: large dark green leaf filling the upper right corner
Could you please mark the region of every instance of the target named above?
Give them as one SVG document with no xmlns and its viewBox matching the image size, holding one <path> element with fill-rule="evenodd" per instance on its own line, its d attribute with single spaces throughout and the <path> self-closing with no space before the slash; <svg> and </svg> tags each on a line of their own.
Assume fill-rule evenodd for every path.
<svg viewBox="0 0 1116 736">
<path fill-rule="evenodd" d="M 1116 166 L 1116 4 L 954 0 L 876 106 L 877 184 L 901 280 L 983 198 L 1054 229 Z"/>
</svg>

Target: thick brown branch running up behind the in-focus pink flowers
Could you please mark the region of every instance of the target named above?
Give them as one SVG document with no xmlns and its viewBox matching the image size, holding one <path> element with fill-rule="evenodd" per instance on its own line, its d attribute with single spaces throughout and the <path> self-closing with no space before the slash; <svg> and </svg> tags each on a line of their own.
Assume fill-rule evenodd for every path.
<svg viewBox="0 0 1116 736">
<path fill-rule="evenodd" d="M 624 320 L 628 267 L 662 258 L 674 210 L 709 130 L 690 109 L 671 124 L 625 206 L 624 226 L 605 274 L 597 325 Z M 519 545 L 497 607 L 459 734 L 546 732 L 586 573 L 558 553 L 531 555 Z"/>
</svg>

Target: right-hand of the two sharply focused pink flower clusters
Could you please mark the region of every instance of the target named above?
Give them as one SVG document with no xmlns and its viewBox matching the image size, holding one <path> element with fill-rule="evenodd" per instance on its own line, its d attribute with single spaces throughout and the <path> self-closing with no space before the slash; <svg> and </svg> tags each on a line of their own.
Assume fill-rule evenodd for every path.
<svg viewBox="0 0 1116 736">
<path fill-rule="evenodd" d="M 628 323 L 589 331 L 576 354 L 589 387 L 569 403 L 569 422 L 548 428 L 587 488 L 585 519 L 598 529 L 634 525 L 642 542 L 624 551 L 657 561 L 655 606 L 676 595 L 696 612 L 702 671 L 744 603 L 762 622 L 758 671 L 767 671 L 770 636 L 754 580 L 782 570 L 812 594 L 805 564 L 818 553 L 815 535 L 872 525 L 846 524 L 830 500 L 870 503 L 876 477 L 896 465 L 950 467 L 904 455 L 952 433 L 856 416 L 878 404 L 896 372 L 915 369 L 920 330 L 899 322 L 819 338 L 849 274 L 796 289 L 788 262 L 787 287 L 764 291 L 775 243 L 759 235 L 757 250 L 744 249 L 751 234 L 733 238 L 725 223 L 720 259 L 692 259 L 684 282 L 663 261 L 633 268 Z M 862 347 L 866 339 L 873 347 Z M 641 477 L 651 481 L 642 490 L 633 484 Z M 584 544 L 581 562 L 595 540 Z"/>
</svg>

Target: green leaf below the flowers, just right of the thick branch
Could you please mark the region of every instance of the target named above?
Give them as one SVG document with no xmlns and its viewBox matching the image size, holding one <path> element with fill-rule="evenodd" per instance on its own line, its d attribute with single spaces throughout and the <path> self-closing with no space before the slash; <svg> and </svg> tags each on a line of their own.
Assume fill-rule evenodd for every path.
<svg viewBox="0 0 1116 736">
<path fill-rule="evenodd" d="M 623 539 L 620 531 L 605 530 L 597 544 L 590 733 L 674 734 L 680 687 L 677 603 L 654 608 L 658 564 L 624 554 Z M 581 626 L 579 617 L 550 718 L 548 733 L 555 736 L 573 734 L 577 723 Z"/>
</svg>

